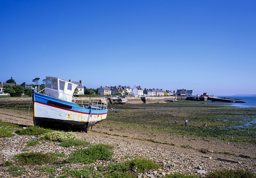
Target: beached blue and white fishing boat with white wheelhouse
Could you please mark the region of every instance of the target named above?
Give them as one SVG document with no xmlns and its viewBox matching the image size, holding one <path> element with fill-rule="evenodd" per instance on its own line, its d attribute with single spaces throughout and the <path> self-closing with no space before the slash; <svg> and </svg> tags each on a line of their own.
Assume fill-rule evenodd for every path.
<svg viewBox="0 0 256 178">
<path fill-rule="evenodd" d="M 78 85 L 57 77 L 46 77 L 45 89 L 33 91 L 33 121 L 35 126 L 60 130 L 88 132 L 107 117 L 107 104 L 91 100 L 76 100 Z M 72 102 L 73 101 L 73 102 Z"/>
</svg>

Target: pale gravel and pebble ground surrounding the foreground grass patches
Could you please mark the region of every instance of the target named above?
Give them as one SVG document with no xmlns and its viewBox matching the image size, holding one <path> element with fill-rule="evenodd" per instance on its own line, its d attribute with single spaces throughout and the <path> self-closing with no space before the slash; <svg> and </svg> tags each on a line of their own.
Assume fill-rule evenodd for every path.
<svg viewBox="0 0 256 178">
<path fill-rule="evenodd" d="M 28 118 L 28 120 L 27 120 Z M 22 126 L 33 125 L 32 113 L 0 109 L 2 121 L 20 124 Z M 228 143 L 220 140 L 198 139 L 185 136 L 166 135 L 159 132 L 148 132 L 135 128 L 120 128 L 113 124 L 102 122 L 93 127 L 92 132 L 75 132 L 78 138 L 91 144 L 105 143 L 114 147 L 114 154 L 111 161 L 97 161 L 90 165 L 107 165 L 110 162 L 123 162 L 131 159 L 129 156 L 141 156 L 151 159 L 160 166 L 159 170 L 150 170 L 147 173 L 138 173 L 140 177 L 161 177 L 175 172 L 185 174 L 207 174 L 208 171 L 220 168 L 248 168 L 256 172 L 256 160 L 246 159 L 238 156 L 218 154 L 216 152 L 228 152 L 235 155 L 246 155 L 255 158 L 255 145 L 245 143 Z M 41 141 L 40 144 L 27 146 L 28 141 L 38 136 L 15 135 L 11 138 L 0 138 L 0 164 L 5 160 L 13 161 L 13 156 L 23 152 L 43 151 L 61 152 L 69 155 L 72 151 L 82 147 L 61 147 L 60 143 Z M 181 146 L 181 147 L 180 147 Z M 183 147 L 183 148 L 182 148 Z M 184 148 L 186 147 L 186 148 Z M 213 152 L 202 153 L 198 150 L 206 149 Z M 217 160 L 218 158 L 226 161 Z M 232 162 L 228 162 L 234 161 Z M 43 165 L 45 166 L 45 165 Z M 65 163 L 72 169 L 80 169 L 85 165 Z M 199 167 L 200 166 L 200 167 Z M 25 173 L 20 177 L 49 177 L 50 173 L 39 172 L 37 168 L 42 166 L 24 166 Z M 197 167 L 197 168 L 196 168 Z M 0 177 L 13 177 L 3 170 L 7 167 L 0 167 Z M 56 176 L 61 175 L 62 168 L 56 170 Z M 201 170 L 200 170 L 201 169 Z M 136 171 L 136 170 L 134 170 Z"/>
</svg>

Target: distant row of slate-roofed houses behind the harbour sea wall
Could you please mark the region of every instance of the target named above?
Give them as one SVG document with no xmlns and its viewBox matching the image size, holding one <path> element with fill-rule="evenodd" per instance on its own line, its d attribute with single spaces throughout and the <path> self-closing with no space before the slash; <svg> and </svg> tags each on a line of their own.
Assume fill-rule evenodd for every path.
<svg viewBox="0 0 256 178">
<path fill-rule="evenodd" d="M 103 87 L 100 86 L 98 90 L 98 95 L 111 95 L 113 93 L 121 93 L 122 95 L 128 96 L 194 96 L 193 90 L 187 89 L 177 89 L 172 92 L 170 90 L 163 90 L 163 89 L 142 89 L 140 86 L 134 85 L 133 88 L 130 86 L 114 86 L 114 87 Z"/>
</svg>

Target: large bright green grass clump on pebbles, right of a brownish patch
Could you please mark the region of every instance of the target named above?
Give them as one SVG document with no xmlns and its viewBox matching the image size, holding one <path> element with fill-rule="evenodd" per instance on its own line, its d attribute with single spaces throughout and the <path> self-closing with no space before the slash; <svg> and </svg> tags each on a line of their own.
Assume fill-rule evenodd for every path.
<svg viewBox="0 0 256 178">
<path fill-rule="evenodd" d="M 113 154 L 112 147 L 105 144 L 93 145 L 86 149 L 73 152 L 66 160 L 71 163 L 93 163 L 96 159 L 110 160 Z"/>
</svg>

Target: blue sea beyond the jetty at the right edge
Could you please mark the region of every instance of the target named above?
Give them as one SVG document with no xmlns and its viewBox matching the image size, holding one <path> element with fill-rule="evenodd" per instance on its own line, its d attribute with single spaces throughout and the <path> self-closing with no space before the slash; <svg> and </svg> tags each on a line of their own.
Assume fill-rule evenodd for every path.
<svg viewBox="0 0 256 178">
<path fill-rule="evenodd" d="M 256 97 L 234 97 L 234 96 L 216 96 L 219 98 L 227 97 L 231 99 L 241 99 L 247 103 L 231 103 L 231 106 L 236 106 L 239 108 L 256 109 Z"/>
</svg>

